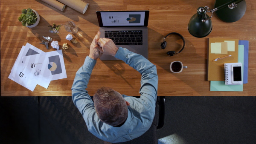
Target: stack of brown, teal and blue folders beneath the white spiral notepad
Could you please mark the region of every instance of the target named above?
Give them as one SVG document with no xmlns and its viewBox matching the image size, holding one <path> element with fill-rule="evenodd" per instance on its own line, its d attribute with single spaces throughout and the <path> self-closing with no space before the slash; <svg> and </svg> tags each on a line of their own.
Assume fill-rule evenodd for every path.
<svg viewBox="0 0 256 144">
<path fill-rule="evenodd" d="M 207 52 L 207 81 L 210 91 L 243 91 L 243 84 L 248 80 L 249 41 L 228 38 L 209 38 Z M 230 57 L 213 61 L 226 55 Z M 225 85 L 224 63 L 242 63 L 243 84 Z"/>
</svg>

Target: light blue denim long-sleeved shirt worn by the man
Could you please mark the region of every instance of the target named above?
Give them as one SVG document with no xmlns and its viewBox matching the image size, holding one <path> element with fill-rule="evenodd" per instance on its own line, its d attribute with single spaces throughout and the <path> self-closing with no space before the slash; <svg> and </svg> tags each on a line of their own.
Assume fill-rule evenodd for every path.
<svg viewBox="0 0 256 144">
<path fill-rule="evenodd" d="M 123 60 L 141 74 L 140 98 L 122 95 L 130 106 L 127 106 L 128 118 L 121 127 L 113 127 L 100 121 L 94 103 L 87 93 L 87 84 L 96 60 L 86 57 L 84 65 L 76 72 L 71 88 L 73 102 L 81 112 L 88 130 L 103 141 L 112 143 L 130 141 L 143 135 L 151 127 L 158 84 L 156 66 L 142 55 L 119 47 L 115 57 Z"/>
</svg>

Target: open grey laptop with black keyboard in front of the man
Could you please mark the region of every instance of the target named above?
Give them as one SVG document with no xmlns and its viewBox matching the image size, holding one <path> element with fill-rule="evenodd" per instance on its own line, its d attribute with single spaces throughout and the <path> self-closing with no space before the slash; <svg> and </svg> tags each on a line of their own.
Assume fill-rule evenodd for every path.
<svg viewBox="0 0 256 144">
<path fill-rule="evenodd" d="M 148 59 L 149 11 L 97 11 L 100 37 Z M 103 54 L 100 60 L 119 60 Z"/>
</svg>

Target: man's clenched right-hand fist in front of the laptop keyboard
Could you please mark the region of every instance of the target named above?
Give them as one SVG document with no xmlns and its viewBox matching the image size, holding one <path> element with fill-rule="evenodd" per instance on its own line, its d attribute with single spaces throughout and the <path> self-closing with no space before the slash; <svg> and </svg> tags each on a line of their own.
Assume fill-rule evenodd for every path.
<svg viewBox="0 0 256 144">
<path fill-rule="evenodd" d="M 118 50 L 115 43 L 108 38 L 99 38 L 98 45 L 100 46 L 98 47 L 99 51 L 107 55 L 115 56 Z"/>
</svg>

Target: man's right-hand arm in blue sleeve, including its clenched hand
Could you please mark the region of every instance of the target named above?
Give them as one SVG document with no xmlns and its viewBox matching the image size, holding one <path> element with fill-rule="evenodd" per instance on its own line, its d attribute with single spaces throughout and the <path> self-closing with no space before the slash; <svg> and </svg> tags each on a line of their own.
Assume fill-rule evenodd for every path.
<svg viewBox="0 0 256 144">
<path fill-rule="evenodd" d="M 108 38 L 99 38 L 98 47 L 99 51 L 115 56 L 116 58 L 123 60 L 129 66 L 136 69 L 141 74 L 141 98 L 155 106 L 157 99 L 157 84 L 158 76 L 157 69 L 154 64 L 144 58 L 142 55 L 138 55 L 134 52 L 130 52 L 125 48 L 117 48 L 113 41 Z"/>
</svg>

